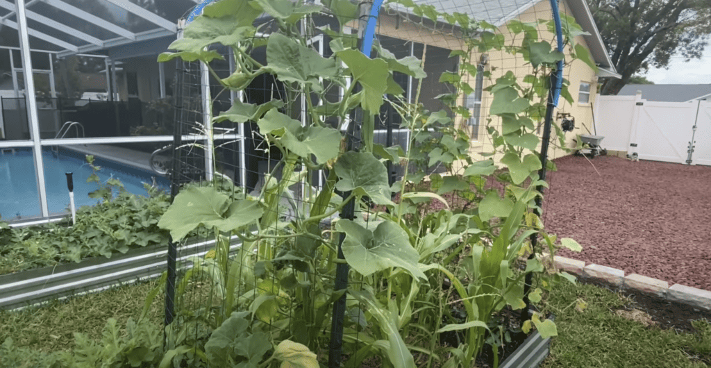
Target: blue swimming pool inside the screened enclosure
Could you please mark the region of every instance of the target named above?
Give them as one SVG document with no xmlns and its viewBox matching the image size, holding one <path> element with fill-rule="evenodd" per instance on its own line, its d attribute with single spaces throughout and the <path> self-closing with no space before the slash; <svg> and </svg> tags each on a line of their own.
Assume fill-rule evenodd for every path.
<svg viewBox="0 0 711 368">
<path fill-rule="evenodd" d="M 45 168 L 45 185 L 50 215 L 68 212 L 69 191 L 65 173 L 74 173 L 74 202 L 76 207 L 95 205 L 97 200 L 90 198 L 89 193 L 97 190 L 96 183 L 87 183 L 92 173 L 85 156 L 65 148 L 58 153 L 50 147 L 42 148 L 42 158 Z M 132 168 L 96 157 L 94 164 L 101 166 L 98 175 L 102 183 L 109 178 L 117 178 L 124 184 L 129 193 L 148 195 L 143 183 L 153 183 L 153 178 L 159 188 L 169 188 L 167 178 L 149 171 Z M 34 169 L 31 148 L 3 149 L 0 153 L 0 215 L 2 220 L 18 220 L 36 217 L 41 214 L 37 180 Z"/>
</svg>

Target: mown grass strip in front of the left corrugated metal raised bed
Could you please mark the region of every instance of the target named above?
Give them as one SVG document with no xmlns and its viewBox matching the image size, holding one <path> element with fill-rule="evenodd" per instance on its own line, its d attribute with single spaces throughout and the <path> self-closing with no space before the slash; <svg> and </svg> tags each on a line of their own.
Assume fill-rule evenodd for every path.
<svg viewBox="0 0 711 368">
<path fill-rule="evenodd" d="M 157 282 L 124 285 L 22 310 L 0 310 L 0 344 L 12 337 L 16 347 L 57 352 L 74 346 L 74 332 L 99 340 L 107 319 L 116 318 L 119 326 L 125 326 L 129 317 L 137 320 L 146 295 Z M 159 294 L 149 320 L 163 323 L 163 303 Z"/>
</svg>

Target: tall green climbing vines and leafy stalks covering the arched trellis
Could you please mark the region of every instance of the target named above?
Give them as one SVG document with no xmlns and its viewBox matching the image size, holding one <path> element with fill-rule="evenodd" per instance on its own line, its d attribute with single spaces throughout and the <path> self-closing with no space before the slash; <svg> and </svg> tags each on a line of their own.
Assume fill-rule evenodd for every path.
<svg viewBox="0 0 711 368">
<path fill-rule="evenodd" d="M 469 60 L 474 50 L 518 53 L 532 65 L 533 73 L 523 80 L 508 72 L 488 89 L 493 94 L 491 114 L 503 121 L 502 131 L 489 128 L 496 150 L 490 154 L 501 155 L 501 167 L 490 159 L 476 161 L 469 156 L 469 138 L 456 129 L 456 120 L 447 112 L 425 111 L 417 98 L 412 104 L 404 101 L 393 73 L 422 80 L 426 74 L 420 60 L 397 59 L 377 44 L 376 58 L 354 48 L 353 39 L 341 29 L 358 17 L 358 7 L 350 1 L 325 1 L 325 6 L 290 0 L 218 1 L 205 6 L 183 38 L 171 45 L 176 52 L 159 56 L 162 62 L 182 58 L 204 63 L 225 90 L 245 90 L 255 77 L 269 74 L 284 84 L 286 92 L 282 100 L 261 105 L 235 100 L 210 122 L 255 122 L 267 144 L 281 153 L 280 179 L 268 174 L 256 196 L 220 193 L 218 180 L 203 187 L 191 185 L 161 217 L 159 227 L 169 230 L 175 241 L 205 229 L 214 234 L 216 244 L 208 255 L 193 260 L 193 268 L 178 281 L 178 300 L 199 292 L 197 274 L 208 276 L 216 297 L 198 308 L 177 305 L 176 322 L 167 328 L 176 342 L 166 353 L 176 366 L 215 364 L 209 353 L 215 345 L 210 341 L 222 331 L 230 330 L 233 336 L 235 329 L 247 331 L 247 326 L 252 328 L 250 339 L 277 346 L 274 356 L 279 355 L 279 346 L 292 341 L 304 346 L 299 351 L 323 362 L 328 347 L 324 332 L 330 332 L 332 318 L 340 318 L 331 315 L 333 303 L 346 293 L 348 364 L 377 358 L 385 367 L 471 367 L 486 341 L 491 316 L 505 307 L 525 307 L 526 274 L 536 274 L 540 281 L 540 288 L 528 296 L 534 303 L 540 301 L 541 288 L 550 289 L 562 278 L 572 280 L 552 267 L 550 257 L 560 247 L 579 250 L 579 245 L 546 234 L 540 218 L 531 212 L 540 195 L 535 188 L 545 185 L 538 178 L 542 165 L 535 150 L 540 139 L 533 131 L 545 110 L 548 75 L 564 55 L 539 40 L 529 24 L 513 23 L 512 31 L 525 35 L 523 45 L 509 47 L 503 45 L 496 28 L 484 22 L 400 2 L 435 22 L 445 19 L 456 24 L 467 35 L 466 48 L 454 52 L 460 57 L 462 74 L 445 73 L 441 79 L 456 87 L 456 94 L 443 97 L 456 116 L 465 115 L 457 102 L 472 90 L 464 74 L 476 72 Z M 269 38 L 257 37 L 267 28 L 254 26 L 261 13 L 273 19 L 267 23 L 273 31 Z M 321 30 L 333 51 L 328 58 L 309 47 L 304 33 L 311 29 L 302 28 L 324 14 L 336 14 L 339 22 L 335 28 Z M 580 31 L 572 19 L 565 22 L 570 44 L 569 36 Z M 223 58 L 215 45 L 232 51 L 236 65 L 232 75 L 218 75 L 210 66 Z M 264 48 L 265 65 L 252 58 L 256 48 Z M 574 50 L 584 60 L 582 51 Z M 326 99 L 328 91 L 338 87 L 343 96 L 337 102 Z M 296 102 L 303 96 L 309 97 L 304 98 L 306 124 L 294 119 Z M 374 116 L 386 100 L 397 109 L 403 127 L 410 129 L 409 146 L 416 148 L 404 152 L 373 142 Z M 363 141 L 353 150 L 343 142 L 341 131 L 356 109 L 363 112 Z M 338 123 L 332 126 L 326 119 Z M 439 146 L 432 140 L 435 127 L 442 134 Z M 414 172 L 406 164 L 403 178 L 391 186 L 387 161 L 396 166 L 401 161 L 419 164 Z M 425 180 L 424 169 L 435 164 L 444 165 L 448 175 Z M 454 172 L 459 166 L 464 169 Z M 328 173 L 326 183 L 314 188 L 309 174 L 321 170 Z M 487 185 L 492 177 L 504 190 Z M 306 190 L 310 193 L 303 196 L 294 216 L 286 218 L 279 209 L 296 183 L 311 188 Z M 466 199 L 466 207 L 449 205 L 442 197 L 447 193 Z M 324 220 L 351 201 L 355 220 L 340 219 L 328 227 Z M 442 203 L 445 209 L 427 210 L 432 202 Z M 532 251 L 532 235 L 544 239 L 551 256 L 545 258 L 541 249 L 535 249 L 537 256 L 525 259 Z M 230 253 L 233 237 L 242 242 L 237 254 Z M 338 258 L 341 237 L 344 259 Z M 351 267 L 352 283 L 345 291 L 333 284 L 336 266 L 343 263 Z M 261 330 L 263 324 L 272 328 Z M 544 336 L 556 333 L 552 320 L 542 315 L 533 315 L 530 325 Z M 461 332 L 463 339 L 456 346 L 441 347 L 439 337 L 445 332 Z M 219 344 L 230 351 L 228 357 L 237 359 L 242 342 L 220 339 Z M 442 350 L 449 350 L 449 359 L 438 354 Z M 247 366 L 257 367 L 271 364 L 269 359 L 260 360 L 268 352 L 258 349 L 250 352 L 254 355 L 239 357 L 255 364 Z"/>
</svg>

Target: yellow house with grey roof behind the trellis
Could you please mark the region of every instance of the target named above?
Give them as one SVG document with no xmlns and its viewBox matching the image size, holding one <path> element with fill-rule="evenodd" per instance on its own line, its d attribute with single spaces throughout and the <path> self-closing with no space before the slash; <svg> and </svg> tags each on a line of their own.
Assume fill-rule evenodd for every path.
<svg viewBox="0 0 711 368">
<path fill-rule="evenodd" d="M 549 0 L 419 0 L 417 5 L 431 5 L 439 12 L 467 13 L 471 19 L 486 21 L 496 26 L 498 34 L 503 36 L 504 45 L 520 45 L 523 34 L 514 34 L 507 27 L 511 21 L 524 23 L 538 20 L 550 21 L 552 10 Z M 563 77 L 568 81 L 568 92 L 574 99 L 571 104 L 561 98 L 553 114 L 560 124 L 562 114 L 570 114 L 574 118 L 573 131 L 565 134 L 565 145 L 568 148 L 575 146 L 574 139 L 577 134 L 595 134 L 593 107 L 597 94 L 597 86 L 602 78 L 619 78 L 614 65 L 602 43 L 597 27 L 592 18 L 585 0 L 560 0 L 561 13 L 571 16 L 586 32 L 585 35 L 575 36 L 574 42 L 583 45 L 588 50 L 590 58 L 597 65 L 597 70 L 584 63 L 582 60 L 572 60 L 570 48 L 565 50 L 566 66 Z M 555 34 L 550 33 L 547 24 L 538 23 L 540 40 L 547 40 L 555 48 Z M 405 87 L 410 101 L 419 96 L 418 102 L 430 111 L 442 109 L 444 104 L 434 99 L 437 95 L 452 91 L 452 87 L 439 82 L 442 72 L 456 72 L 457 58 L 450 58 L 452 50 L 464 49 L 461 36 L 458 36 L 456 27 L 446 22 L 435 23 L 424 17 L 412 13 L 412 9 L 399 4 L 389 4 L 383 8 L 376 29 L 378 40 L 383 47 L 395 53 L 397 57 L 414 55 L 424 59 L 424 69 L 427 77 L 418 88 L 415 82 Z M 409 53 L 408 53 L 409 51 Z M 491 137 L 486 131 L 487 125 L 498 126 L 501 124 L 498 117 L 488 114 L 493 97 L 486 92 L 486 87 L 496 81 L 508 71 L 512 71 L 522 82 L 523 77 L 532 70 L 520 54 L 513 55 L 503 50 L 489 50 L 486 54 L 474 52 L 470 58 L 479 62 L 479 71 L 488 71 L 490 76 L 483 77 L 486 73 L 477 73 L 479 77 L 469 77 L 466 82 L 474 89 L 466 99 L 459 104 L 470 108 L 471 119 L 458 118 L 456 124 L 469 131 L 471 136 L 471 156 L 481 159 L 479 153 L 493 151 Z M 572 60 L 572 62 L 571 62 Z M 419 94 L 417 94 L 419 90 Z M 467 101 L 468 99 L 468 101 Z M 491 119 L 491 121 L 489 121 Z M 542 131 L 542 129 L 540 129 Z M 539 131 L 539 133 L 540 133 Z M 566 152 L 558 146 L 558 141 L 551 141 L 549 157 L 564 156 Z"/>
</svg>

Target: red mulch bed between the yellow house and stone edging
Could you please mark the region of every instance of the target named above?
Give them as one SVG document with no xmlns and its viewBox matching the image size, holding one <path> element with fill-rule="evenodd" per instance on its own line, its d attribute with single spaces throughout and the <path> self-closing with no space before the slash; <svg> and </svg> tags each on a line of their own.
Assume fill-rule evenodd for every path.
<svg viewBox="0 0 711 368">
<path fill-rule="evenodd" d="M 710 166 L 613 156 L 555 163 L 545 227 L 584 248 L 559 255 L 711 291 Z"/>
</svg>

